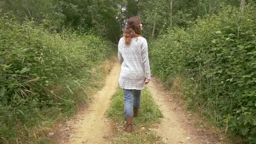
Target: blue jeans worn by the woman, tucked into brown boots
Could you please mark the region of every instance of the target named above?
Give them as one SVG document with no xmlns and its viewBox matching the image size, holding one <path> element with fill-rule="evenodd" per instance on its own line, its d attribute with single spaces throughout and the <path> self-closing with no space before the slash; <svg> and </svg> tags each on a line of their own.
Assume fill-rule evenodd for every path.
<svg viewBox="0 0 256 144">
<path fill-rule="evenodd" d="M 124 111 L 125 117 L 133 116 L 133 107 L 140 108 L 141 103 L 141 90 L 126 90 L 123 89 L 124 94 Z"/>
</svg>

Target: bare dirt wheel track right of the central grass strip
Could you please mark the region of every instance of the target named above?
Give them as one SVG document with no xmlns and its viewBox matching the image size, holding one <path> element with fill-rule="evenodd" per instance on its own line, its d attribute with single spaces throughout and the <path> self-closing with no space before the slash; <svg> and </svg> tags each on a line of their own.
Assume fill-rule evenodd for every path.
<svg viewBox="0 0 256 144">
<path fill-rule="evenodd" d="M 168 144 L 221 144 L 217 135 L 208 132 L 203 125 L 195 128 L 192 115 L 185 114 L 171 100 L 163 86 L 155 79 L 148 85 L 153 98 L 164 115 L 163 121 L 155 129 Z"/>
</svg>

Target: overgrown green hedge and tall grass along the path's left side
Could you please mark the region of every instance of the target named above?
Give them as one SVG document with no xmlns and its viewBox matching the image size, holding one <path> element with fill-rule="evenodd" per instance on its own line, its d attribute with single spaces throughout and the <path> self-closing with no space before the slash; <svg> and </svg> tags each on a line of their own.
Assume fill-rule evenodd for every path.
<svg viewBox="0 0 256 144">
<path fill-rule="evenodd" d="M 0 17 L 0 143 L 29 141 L 37 129 L 75 111 L 88 88 L 99 87 L 100 69 L 91 69 L 112 48 L 94 35 L 49 33 Z"/>
</svg>

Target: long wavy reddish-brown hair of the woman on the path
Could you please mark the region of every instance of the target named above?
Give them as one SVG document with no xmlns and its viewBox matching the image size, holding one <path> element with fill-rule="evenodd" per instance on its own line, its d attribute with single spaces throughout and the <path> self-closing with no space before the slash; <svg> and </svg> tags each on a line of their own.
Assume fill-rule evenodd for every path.
<svg viewBox="0 0 256 144">
<path fill-rule="evenodd" d="M 125 31 L 123 33 L 126 45 L 131 44 L 132 38 L 141 36 L 140 24 L 141 20 L 137 16 L 133 16 L 130 19 L 128 19 Z"/>
</svg>

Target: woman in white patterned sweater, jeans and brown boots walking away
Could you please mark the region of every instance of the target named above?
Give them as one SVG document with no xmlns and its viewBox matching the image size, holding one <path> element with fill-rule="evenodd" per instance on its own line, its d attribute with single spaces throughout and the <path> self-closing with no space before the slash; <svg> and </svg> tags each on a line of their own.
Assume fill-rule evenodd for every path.
<svg viewBox="0 0 256 144">
<path fill-rule="evenodd" d="M 133 117 L 140 108 L 141 90 L 150 80 L 147 40 L 141 37 L 142 24 L 138 17 L 128 19 L 123 37 L 118 43 L 121 64 L 119 85 L 124 93 L 126 131 L 133 129 Z"/>
</svg>

